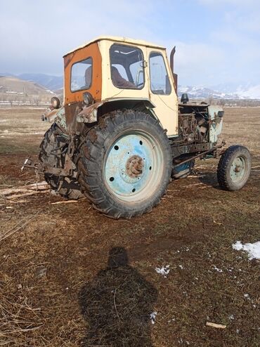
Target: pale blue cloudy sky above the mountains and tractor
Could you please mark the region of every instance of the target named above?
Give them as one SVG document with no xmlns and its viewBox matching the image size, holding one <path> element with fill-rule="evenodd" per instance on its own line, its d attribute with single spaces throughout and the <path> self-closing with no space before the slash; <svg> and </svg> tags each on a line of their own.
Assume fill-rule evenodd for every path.
<svg viewBox="0 0 260 347">
<path fill-rule="evenodd" d="M 180 84 L 260 84 L 260 0 L 0 0 L 0 72 L 63 74 L 100 35 L 176 45 Z"/>
</svg>

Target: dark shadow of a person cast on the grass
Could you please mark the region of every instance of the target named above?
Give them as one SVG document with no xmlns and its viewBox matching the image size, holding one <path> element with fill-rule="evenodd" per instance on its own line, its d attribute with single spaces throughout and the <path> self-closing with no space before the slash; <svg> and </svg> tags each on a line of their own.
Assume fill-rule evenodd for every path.
<svg viewBox="0 0 260 347">
<path fill-rule="evenodd" d="M 107 268 L 79 293 L 88 327 L 82 346 L 152 347 L 150 314 L 156 300 L 157 290 L 129 266 L 126 250 L 110 249 Z"/>
</svg>

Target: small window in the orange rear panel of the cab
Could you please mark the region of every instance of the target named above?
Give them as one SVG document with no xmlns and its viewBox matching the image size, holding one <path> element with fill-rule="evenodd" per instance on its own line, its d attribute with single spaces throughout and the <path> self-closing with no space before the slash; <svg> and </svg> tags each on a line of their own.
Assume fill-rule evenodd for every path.
<svg viewBox="0 0 260 347">
<path fill-rule="evenodd" d="M 70 90 L 81 91 L 89 89 L 92 82 L 92 58 L 79 61 L 72 65 Z"/>
</svg>

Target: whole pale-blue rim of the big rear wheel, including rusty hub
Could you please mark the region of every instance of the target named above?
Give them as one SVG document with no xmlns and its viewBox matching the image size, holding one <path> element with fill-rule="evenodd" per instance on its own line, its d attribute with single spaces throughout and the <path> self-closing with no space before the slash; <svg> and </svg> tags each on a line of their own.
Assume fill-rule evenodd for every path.
<svg viewBox="0 0 260 347">
<path fill-rule="evenodd" d="M 163 152 L 145 131 L 126 131 L 108 149 L 103 168 L 110 193 L 123 202 L 141 202 L 157 191 L 163 173 Z"/>
</svg>

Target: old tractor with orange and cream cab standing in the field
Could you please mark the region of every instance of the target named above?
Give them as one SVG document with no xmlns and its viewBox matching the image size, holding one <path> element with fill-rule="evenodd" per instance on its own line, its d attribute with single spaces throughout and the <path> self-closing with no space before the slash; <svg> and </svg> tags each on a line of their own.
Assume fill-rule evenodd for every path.
<svg viewBox="0 0 260 347">
<path fill-rule="evenodd" d="M 65 54 L 63 104 L 51 99 L 39 163 L 25 166 L 63 197 L 86 196 L 112 218 L 151 211 L 197 158 L 219 157 L 219 185 L 240 190 L 250 153 L 219 143 L 221 107 L 191 103 L 187 94 L 178 102 L 174 53 L 168 61 L 162 46 L 100 37 Z"/>
</svg>

